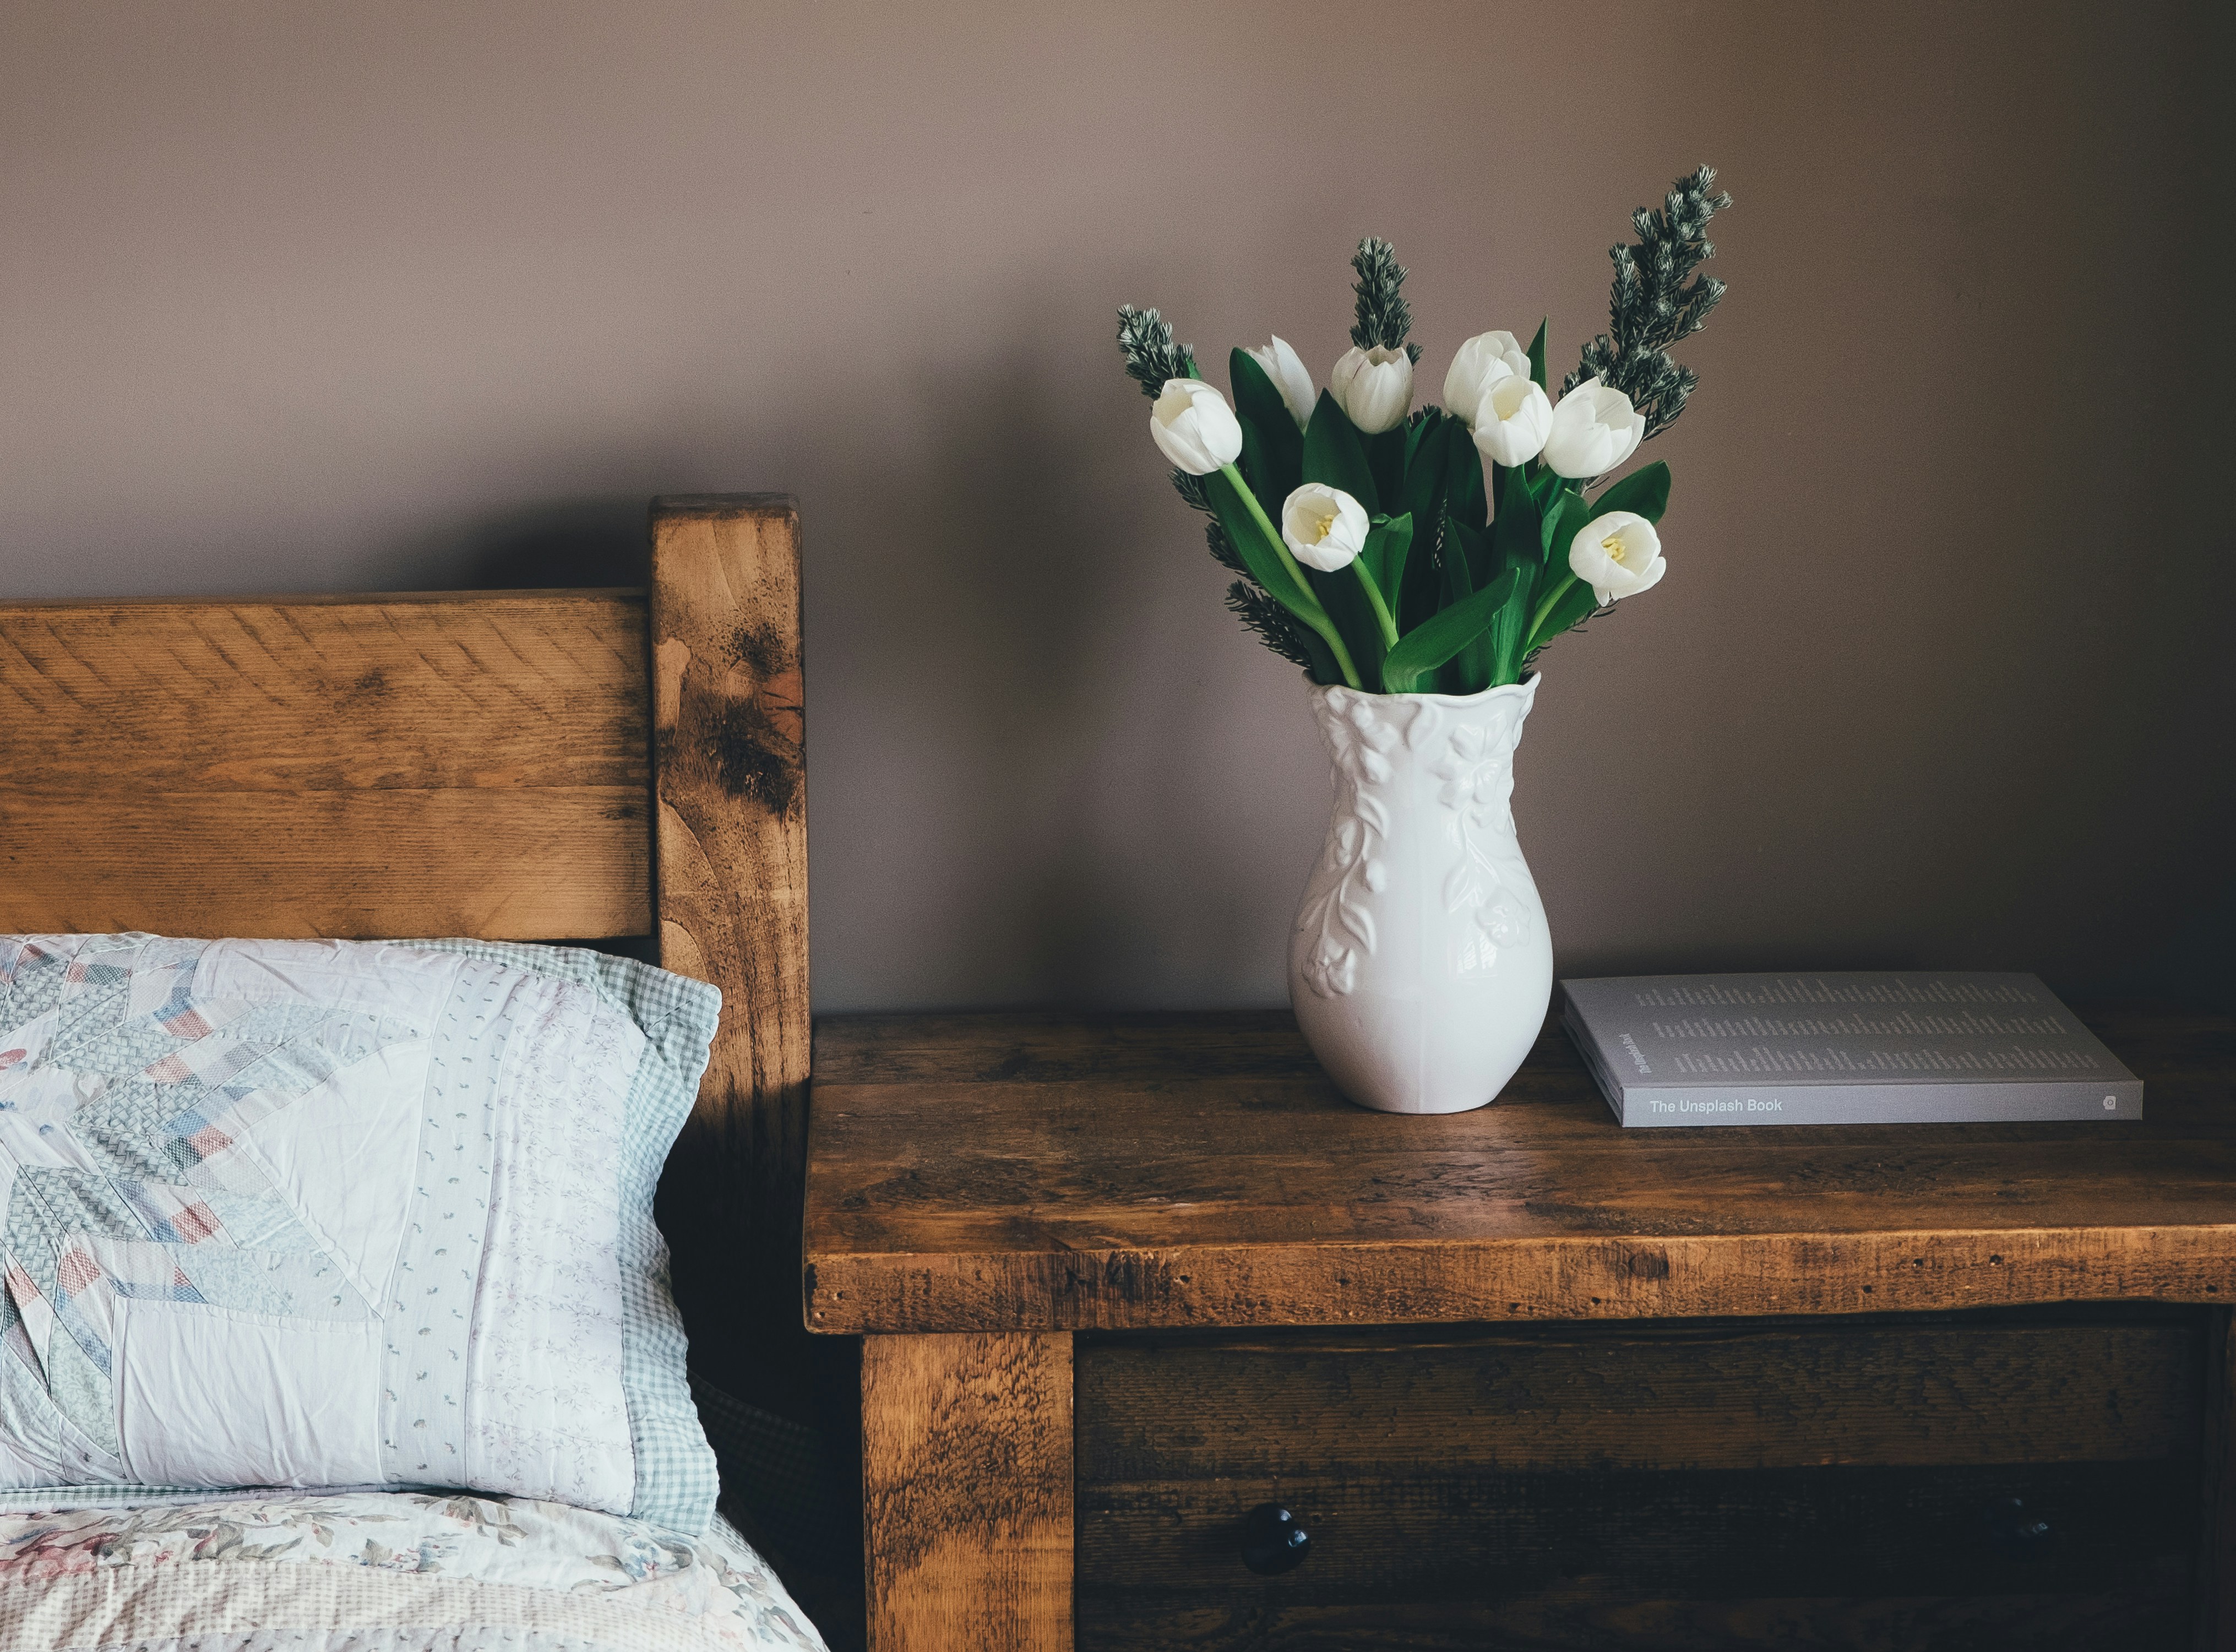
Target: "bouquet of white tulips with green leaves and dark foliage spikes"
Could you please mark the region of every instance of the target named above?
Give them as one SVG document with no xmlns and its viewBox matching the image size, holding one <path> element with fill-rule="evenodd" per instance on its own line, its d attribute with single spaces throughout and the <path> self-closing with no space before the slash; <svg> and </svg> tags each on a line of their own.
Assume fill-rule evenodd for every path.
<svg viewBox="0 0 2236 1652">
<path fill-rule="evenodd" d="M 1610 329 L 1558 400 L 1545 326 L 1491 331 L 1444 373 L 1444 405 L 1413 409 L 1420 346 L 1389 241 L 1353 257 L 1353 349 L 1313 389 L 1275 338 L 1228 358 L 1232 405 L 1156 311 L 1118 311 L 1127 373 L 1154 398 L 1149 434 L 1212 554 L 1241 575 L 1228 606 L 1315 682 L 1371 693 L 1480 693 L 1520 682 L 1563 630 L 1659 583 L 1655 523 L 1668 465 L 1614 474 L 1684 411 L 1695 376 L 1670 346 L 1724 295 L 1697 275 L 1715 172 L 1639 208 L 1612 248 Z"/>
</svg>

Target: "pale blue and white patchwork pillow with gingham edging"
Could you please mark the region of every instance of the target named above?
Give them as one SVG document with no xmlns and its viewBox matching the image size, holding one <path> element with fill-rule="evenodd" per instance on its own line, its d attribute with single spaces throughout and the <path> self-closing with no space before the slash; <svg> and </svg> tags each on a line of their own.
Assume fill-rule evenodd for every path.
<svg viewBox="0 0 2236 1652">
<path fill-rule="evenodd" d="M 0 1502 L 713 1516 L 653 1183 L 720 993 L 479 941 L 0 937 Z"/>
</svg>

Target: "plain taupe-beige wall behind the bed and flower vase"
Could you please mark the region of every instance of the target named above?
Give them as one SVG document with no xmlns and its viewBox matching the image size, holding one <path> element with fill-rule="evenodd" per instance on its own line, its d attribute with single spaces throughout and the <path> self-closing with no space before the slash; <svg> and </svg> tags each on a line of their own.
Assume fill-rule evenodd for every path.
<svg viewBox="0 0 2236 1652">
<path fill-rule="evenodd" d="M 1561 968 L 2225 984 L 2214 11 L 9 0 L 0 595 L 628 579 L 792 490 L 818 1006 L 1275 1001 L 1326 771 L 1111 306 L 1324 373 L 1380 232 L 1431 382 L 1565 364 L 1713 161 L 1670 577 L 1523 747 Z"/>
</svg>

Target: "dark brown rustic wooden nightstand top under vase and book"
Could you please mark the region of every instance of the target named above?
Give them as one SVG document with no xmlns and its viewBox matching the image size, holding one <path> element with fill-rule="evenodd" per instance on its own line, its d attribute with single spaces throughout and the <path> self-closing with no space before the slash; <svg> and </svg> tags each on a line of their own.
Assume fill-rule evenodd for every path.
<svg viewBox="0 0 2236 1652">
<path fill-rule="evenodd" d="M 1474 1113 L 1286 1010 L 816 1028 L 807 1323 L 1160 1330 L 2236 1303 L 2236 1017 L 2084 1019 L 2140 1122 L 1619 1129 L 1547 1026 Z"/>
</svg>

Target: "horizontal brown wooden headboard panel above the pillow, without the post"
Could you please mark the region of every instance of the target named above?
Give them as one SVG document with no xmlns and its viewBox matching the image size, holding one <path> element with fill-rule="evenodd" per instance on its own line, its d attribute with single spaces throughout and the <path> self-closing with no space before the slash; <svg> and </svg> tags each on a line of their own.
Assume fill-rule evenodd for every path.
<svg viewBox="0 0 2236 1652">
<path fill-rule="evenodd" d="M 639 592 L 0 604 L 0 930 L 651 930 Z"/>
</svg>

